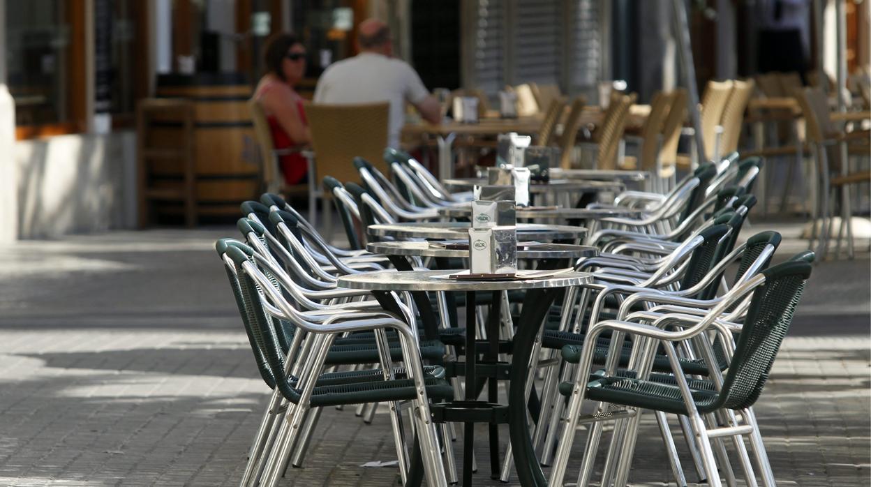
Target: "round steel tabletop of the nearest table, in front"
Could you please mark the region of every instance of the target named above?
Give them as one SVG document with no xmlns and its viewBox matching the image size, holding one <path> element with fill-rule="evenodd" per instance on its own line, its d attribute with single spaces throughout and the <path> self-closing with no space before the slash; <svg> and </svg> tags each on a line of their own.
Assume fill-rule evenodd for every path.
<svg viewBox="0 0 871 487">
<path fill-rule="evenodd" d="M 548 287 L 580 286 L 592 281 L 592 274 L 566 272 L 543 279 L 523 281 L 490 281 L 451 279 L 458 271 L 375 271 L 343 275 L 339 287 L 370 291 L 503 291 L 512 289 L 544 289 Z"/>
</svg>

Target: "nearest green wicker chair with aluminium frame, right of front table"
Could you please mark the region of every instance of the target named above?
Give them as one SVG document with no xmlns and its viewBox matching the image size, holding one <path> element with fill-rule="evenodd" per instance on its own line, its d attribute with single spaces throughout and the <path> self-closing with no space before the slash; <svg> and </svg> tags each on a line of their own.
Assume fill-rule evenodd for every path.
<svg viewBox="0 0 871 487">
<path fill-rule="evenodd" d="M 618 417 L 618 422 L 622 422 L 615 431 L 622 432 L 623 437 L 615 438 L 618 441 L 612 442 L 612 447 L 615 444 L 618 446 L 611 450 L 617 452 L 619 461 L 611 471 L 615 473 L 617 484 L 625 484 L 641 409 L 653 409 L 689 418 L 710 485 L 721 484 L 711 440 L 725 436 L 736 436 L 736 441 L 742 441 L 741 436 L 749 436 L 763 483 L 766 486 L 774 485 L 773 472 L 751 406 L 757 401 L 765 386 L 774 358 L 783 337 L 787 334 L 794 310 L 810 274 L 811 266 L 807 261 L 790 260 L 770 267 L 754 275 L 739 287 L 733 288 L 724 300 L 702 317 L 672 314 L 663 315 L 652 324 L 601 321 L 591 327 L 588 340 L 597 340 L 599 335 L 610 331 L 615 335 L 633 335 L 640 339 L 639 343 L 649 343 L 649 345 L 658 343 L 660 347 L 665 348 L 665 353 L 672 364 L 673 383 L 657 381 L 650 375 L 652 352 L 655 351 L 655 347 L 652 346 L 645 347 L 645 351 L 637 356 L 638 360 L 632 362 L 634 369 L 631 369 L 631 374 L 617 374 L 616 369 L 609 367 L 597 372 L 598 378 L 590 381 L 595 347 L 590 343 L 585 344 L 575 380 L 561 388 L 561 392 L 571 398 L 562 441 L 559 444 L 554 468 L 550 472 L 550 484 L 563 484 L 577 423 L 582 419 L 587 421 L 587 416 L 584 418 L 580 416 L 581 404 L 584 399 L 590 399 L 600 403 L 597 411 L 604 410 L 610 414 L 599 413 L 598 417 L 589 418 L 595 422 L 595 426 L 591 429 L 587 443 L 588 454 L 581 463 L 578 485 L 585 485 L 590 480 L 592 463 L 602 432 L 599 420 L 607 419 L 607 416 Z M 721 316 L 728 308 L 733 307 L 750 293 L 753 294 L 743 325 L 721 321 Z M 677 324 L 680 328 L 675 331 L 662 328 L 670 323 Z M 726 355 L 730 360 L 726 375 L 715 373 L 710 383 L 688 381 L 681 369 L 675 345 L 693 337 L 704 338 L 708 330 L 716 331 L 719 338 L 730 345 L 726 347 Z M 733 331 L 739 331 L 740 334 L 737 345 L 732 347 Z M 612 344 L 612 348 L 613 346 Z M 701 352 L 706 360 L 714 360 L 711 347 L 702 348 Z M 620 414 L 617 414 L 614 408 L 601 406 L 602 404 L 611 404 L 615 407 L 619 405 L 630 409 L 620 409 Z M 726 426 L 706 425 L 702 415 L 724 410 L 729 412 L 725 417 L 737 418 L 734 416 L 737 413 L 744 424 L 735 422 Z M 747 475 L 753 475 L 749 459 L 742 458 L 742 466 L 745 470 L 751 469 L 746 472 Z M 609 473 L 611 472 L 605 472 L 606 475 Z M 605 480 L 610 481 L 611 478 Z"/>
</svg>

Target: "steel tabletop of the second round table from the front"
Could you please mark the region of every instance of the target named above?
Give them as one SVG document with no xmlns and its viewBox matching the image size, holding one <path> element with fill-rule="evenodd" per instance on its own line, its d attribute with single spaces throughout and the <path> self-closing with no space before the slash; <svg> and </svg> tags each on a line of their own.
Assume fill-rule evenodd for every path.
<svg viewBox="0 0 871 487">
<path fill-rule="evenodd" d="M 459 243 L 468 243 L 466 241 Z M 469 257 L 469 248 L 445 248 L 442 242 L 372 242 L 366 250 L 373 254 L 416 255 L 418 257 Z M 517 245 L 517 259 L 580 259 L 595 257 L 598 248 L 585 245 L 530 243 Z"/>
</svg>

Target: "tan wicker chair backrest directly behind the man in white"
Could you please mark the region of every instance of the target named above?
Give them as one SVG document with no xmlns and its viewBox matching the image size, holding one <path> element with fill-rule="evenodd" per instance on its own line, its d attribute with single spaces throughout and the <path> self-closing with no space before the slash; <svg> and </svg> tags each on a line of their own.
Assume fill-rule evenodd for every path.
<svg viewBox="0 0 871 487">
<path fill-rule="evenodd" d="M 381 154 L 388 141 L 389 104 L 379 102 L 364 105 L 306 105 L 308 126 L 312 131 L 315 175 L 309 178 L 333 176 L 340 180 L 357 180 L 351 165 L 360 156 L 375 161 L 387 170 Z"/>
</svg>

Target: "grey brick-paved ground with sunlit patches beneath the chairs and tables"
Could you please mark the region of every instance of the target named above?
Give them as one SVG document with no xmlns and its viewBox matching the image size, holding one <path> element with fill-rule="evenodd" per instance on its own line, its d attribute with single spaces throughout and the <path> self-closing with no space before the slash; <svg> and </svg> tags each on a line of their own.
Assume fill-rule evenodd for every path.
<svg viewBox="0 0 871 487">
<path fill-rule="evenodd" d="M 238 484 L 267 388 L 211 247 L 234 234 L 119 232 L 2 249 L 0 485 Z M 799 247 L 787 239 L 781 252 Z M 779 484 L 871 484 L 868 264 L 863 254 L 814 269 L 756 408 Z M 633 484 L 667 484 L 649 417 L 641 437 Z M 392 460 L 393 448 L 386 415 L 366 425 L 353 408 L 327 409 L 306 468 L 282 484 L 397 484 L 395 467 L 361 468 Z M 481 463 L 476 485 L 503 485 Z"/>
</svg>

